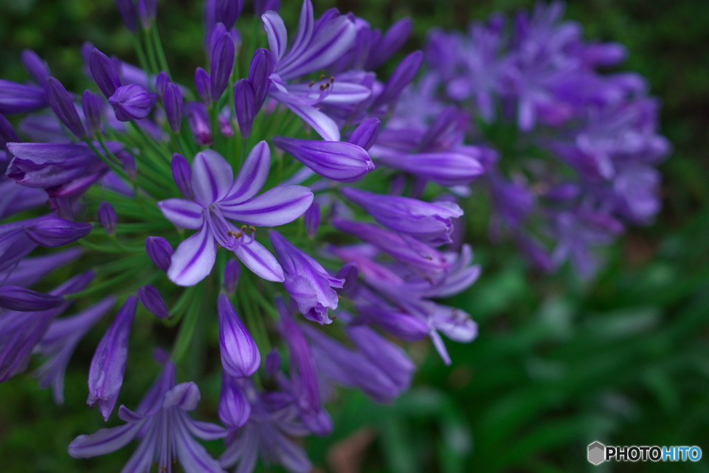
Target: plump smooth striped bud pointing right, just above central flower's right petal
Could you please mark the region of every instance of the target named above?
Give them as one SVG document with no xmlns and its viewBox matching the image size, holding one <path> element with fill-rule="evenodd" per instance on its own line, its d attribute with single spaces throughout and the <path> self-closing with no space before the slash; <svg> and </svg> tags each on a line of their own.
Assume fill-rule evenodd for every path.
<svg viewBox="0 0 709 473">
<path fill-rule="evenodd" d="M 374 169 L 367 151 L 352 143 L 285 136 L 275 136 L 273 143 L 321 176 L 335 181 L 357 182 Z"/>
</svg>

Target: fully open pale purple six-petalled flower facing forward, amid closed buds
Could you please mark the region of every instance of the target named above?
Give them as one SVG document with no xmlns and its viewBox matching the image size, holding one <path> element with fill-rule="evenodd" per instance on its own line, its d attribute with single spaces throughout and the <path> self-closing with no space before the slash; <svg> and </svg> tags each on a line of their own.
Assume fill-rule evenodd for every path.
<svg viewBox="0 0 709 473">
<path fill-rule="evenodd" d="M 212 270 L 216 243 L 233 251 L 249 269 L 268 281 L 283 281 L 283 271 L 253 234 L 231 221 L 252 226 L 279 226 L 294 221 L 313 202 L 310 189 L 274 187 L 256 196 L 268 176 L 271 152 L 265 142 L 249 153 L 233 179 L 231 166 L 212 150 L 197 154 L 192 165 L 194 201 L 168 199 L 158 203 L 164 216 L 177 226 L 199 231 L 180 243 L 167 272 L 175 284 L 192 286 Z"/>
</svg>

